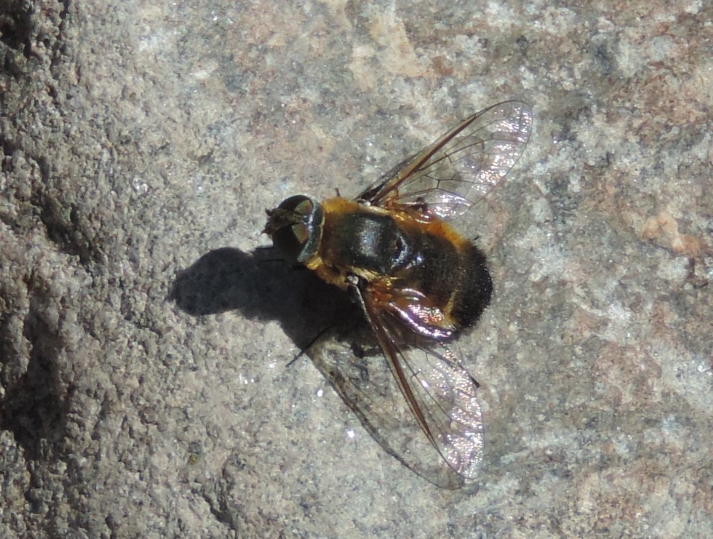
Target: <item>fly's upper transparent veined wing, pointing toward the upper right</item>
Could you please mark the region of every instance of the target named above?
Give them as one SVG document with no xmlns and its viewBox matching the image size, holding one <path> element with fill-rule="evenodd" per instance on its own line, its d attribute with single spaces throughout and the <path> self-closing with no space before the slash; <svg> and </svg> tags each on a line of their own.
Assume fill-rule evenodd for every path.
<svg viewBox="0 0 713 539">
<path fill-rule="evenodd" d="M 441 218 L 461 215 L 503 181 L 522 155 L 532 123 L 532 109 L 523 101 L 483 109 L 356 198 Z"/>
</svg>

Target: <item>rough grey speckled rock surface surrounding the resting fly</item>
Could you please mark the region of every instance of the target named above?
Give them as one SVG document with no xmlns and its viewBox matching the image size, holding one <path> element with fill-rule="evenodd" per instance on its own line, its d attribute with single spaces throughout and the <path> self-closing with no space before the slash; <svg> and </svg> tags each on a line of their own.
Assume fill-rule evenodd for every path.
<svg viewBox="0 0 713 539">
<path fill-rule="evenodd" d="M 4 1 L 0 537 L 713 537 L 712 21 Z M 442 491 L 286 368 L 326 292 L 255 249 L 266 207 L 508 98 L 534 131 L 468 229 L 495 296 L 460 340 L 485 462 Z"/>
</svg>

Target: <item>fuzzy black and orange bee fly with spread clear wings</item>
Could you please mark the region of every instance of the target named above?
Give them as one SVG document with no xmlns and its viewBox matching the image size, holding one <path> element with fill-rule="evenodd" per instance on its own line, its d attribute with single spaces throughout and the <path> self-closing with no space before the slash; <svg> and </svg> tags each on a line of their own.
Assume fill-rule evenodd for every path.
<svg viewBox="0 0 713 539">
<path fill-rule="evenodd" d="M 282 257 L 361 306 L 408 409 L 460 484 L 478 473 L 483 416 L 478 383 L 449 343 L 488 306 L 492 282 L 483 252 L 446 219 L 503 181 L 523 153 L 532 121 L 526 103 L 498 103 L 458 123 L 354 200 L 297 195 L 267 211 L 264 232 Z M 364 416 L 359 399 L 347 404 Z"/>
</svg>

